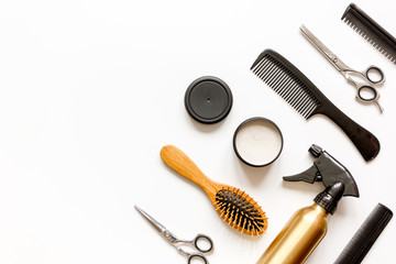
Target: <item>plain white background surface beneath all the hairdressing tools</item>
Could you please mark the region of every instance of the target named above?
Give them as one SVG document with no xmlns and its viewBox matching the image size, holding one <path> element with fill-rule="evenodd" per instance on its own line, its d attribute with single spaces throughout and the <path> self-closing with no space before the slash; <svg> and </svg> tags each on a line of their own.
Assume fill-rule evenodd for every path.
<svg viewBox="0 0 396 264">
<path fill-rule="evenodd" d="M 320 183 L 283 183 L 322 146 L 354 176 L 361 197 L 341 200 L 308 263 L 333 263 L 377 202 L 396 210 L 396 66 L 340 19 L 349 1 L 1 1 L 0 263 L 185 263 L 133 208 L 180 238 L 209 234 L 211 263 L 255 263 Z M 392 0 L 356 1 L 396 35 Z M 380 113 L 299 32 L 305 24 L 349 66 L 386 74 Z M 256 78 L 265 48 L 295 64 L 342 111 L 381 141 L 365 163 L 326 117 L 306 121 Z M 212 75 L 231 88 L 227 119 L 204 125 L 184 95 Z M 265 168 L 243 165 L 232 135 L 248 118 L 278 124 L 285 145 Z M 260 238 L 232 230 L 206 194 L 174 173 L 160 150 L 174 144 L 212 179 L 240 187 L 263 207 Z M 394 263 L 395 220 L 364 263 Z"/>
</svg>

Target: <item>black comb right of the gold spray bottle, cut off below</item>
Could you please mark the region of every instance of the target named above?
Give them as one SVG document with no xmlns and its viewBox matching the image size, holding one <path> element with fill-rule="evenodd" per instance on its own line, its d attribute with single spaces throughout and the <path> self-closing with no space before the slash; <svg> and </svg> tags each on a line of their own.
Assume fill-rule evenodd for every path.
<svg viewBox="0 0 396 264">
<path fill-rule="evenodd" d="M 359 264 L 391 221 L 393 212 L 384 205 L 376 205 L 334 264 Z"/>
</svg>

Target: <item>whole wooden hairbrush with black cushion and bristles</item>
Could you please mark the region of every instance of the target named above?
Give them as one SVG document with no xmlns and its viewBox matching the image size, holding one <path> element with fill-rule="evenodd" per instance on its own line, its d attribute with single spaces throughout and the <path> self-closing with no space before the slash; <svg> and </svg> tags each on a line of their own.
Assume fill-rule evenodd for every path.
<svg viewBox="0 0 396 264">
<path fill-rule="evenodd" d="M 161 158 L 180 175 L 200 186 L 220 217 L 242 233 L 260 235 L 267 229 L 264 211 L 248 194 L 235 187 L 209 179 L 197 165 L 179 148 L 166 145 Z"/>
</svg>

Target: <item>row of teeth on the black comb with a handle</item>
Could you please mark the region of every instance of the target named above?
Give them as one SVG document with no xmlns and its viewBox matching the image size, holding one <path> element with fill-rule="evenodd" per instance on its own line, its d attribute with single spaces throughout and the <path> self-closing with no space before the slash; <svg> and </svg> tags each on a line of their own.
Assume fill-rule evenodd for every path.
<svg viewBox="0 0 396 264">
<path fill-rule="evenodd" d="M 252 72 L 306 119 L 320 103 L 293 72 L 270 54 L 264 54 Z"/>
</svg>

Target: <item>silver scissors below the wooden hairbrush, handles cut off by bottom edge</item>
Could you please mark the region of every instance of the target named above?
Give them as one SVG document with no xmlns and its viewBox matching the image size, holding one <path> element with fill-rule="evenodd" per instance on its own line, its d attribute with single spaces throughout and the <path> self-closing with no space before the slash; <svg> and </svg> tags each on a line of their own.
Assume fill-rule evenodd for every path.
<svg viewBox="0 0 396 264">
<path fill-rule="evenodd" d="M 160 233 L 173 245 L 177 249 L 178 252 L 180 252 L 183 255 L 187 256 L 187 264 L 190 264 L 191 261 L 199 260 L 204 262 L 205 264 L 209 264 L 208 260 L 205 257 L 205 253 L 209 253 L 213 250 L 213 242 L 212 240 L 205 234 L 197 234 L 197 237 L 194 240 L 180 240 L 175 237 L 169 230 L 167 230 L 164 226 L 162 226 L 158 221 L 156 221 L 153 217 L 151 217 L 148 213 L 140 209 L 138 206 L 135 206 L 136 210 L 142 213 L 142 216 L 147 219 L 158 231 Z M 204 248 L 200 245 L 201 243 L 205 243 L 206 246 Z M 190 248 L 196 249 L 198 252 L 190 253 L 185 250 L 183 250 L 183 245 L 187 245 Z"/>
</svg>

